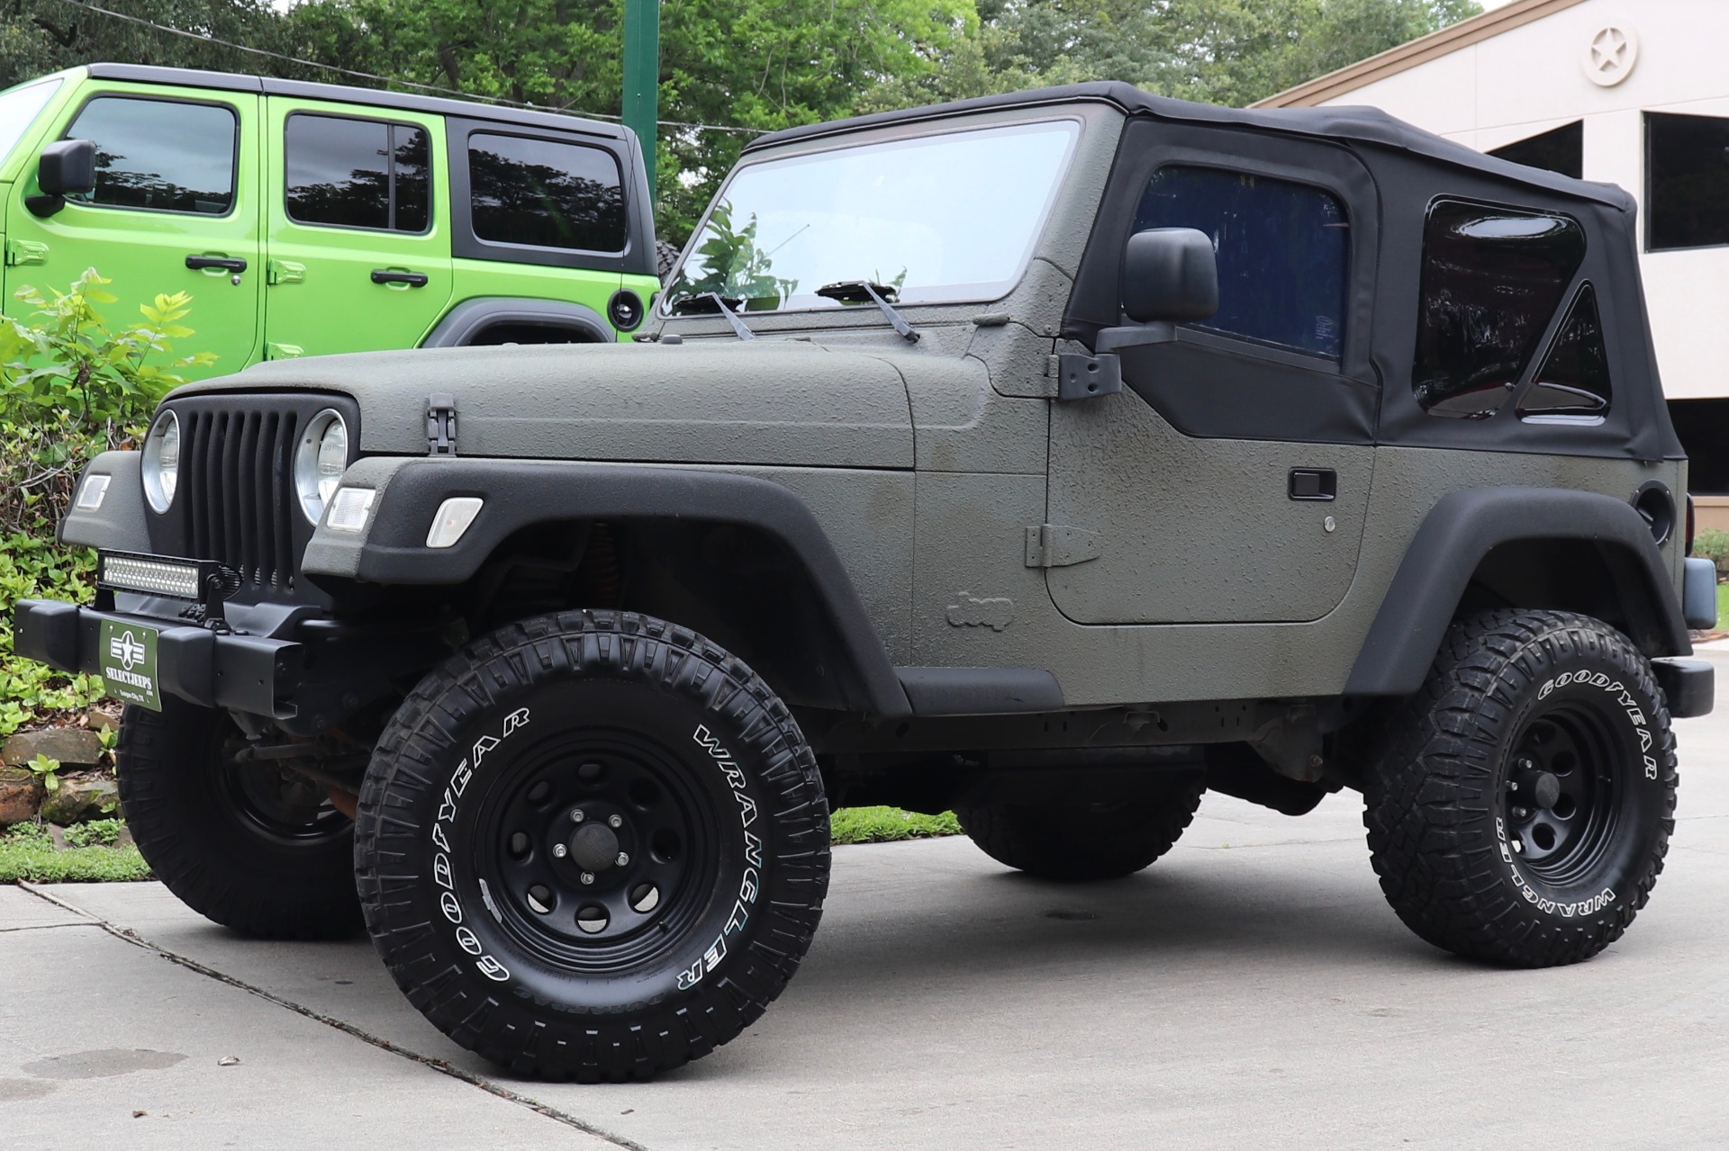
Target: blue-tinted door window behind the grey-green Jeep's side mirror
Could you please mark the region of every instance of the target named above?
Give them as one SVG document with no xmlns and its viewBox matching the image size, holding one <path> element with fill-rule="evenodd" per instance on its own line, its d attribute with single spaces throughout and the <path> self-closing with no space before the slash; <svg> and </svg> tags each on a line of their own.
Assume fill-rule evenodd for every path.
<svg viewBox="0 0 1729 1151">
<path fill-rule="evenodd" d="M 1217 168 L 1160 168 L 1134 230 L 1200 228 L 1219 254 L 1219 313 L 1196 327 L 1338 358 L 1350 233 L 1321 188 Z"/>
</svg>

